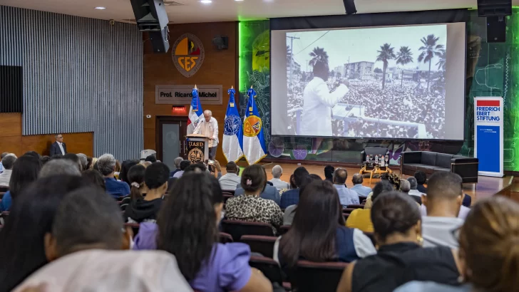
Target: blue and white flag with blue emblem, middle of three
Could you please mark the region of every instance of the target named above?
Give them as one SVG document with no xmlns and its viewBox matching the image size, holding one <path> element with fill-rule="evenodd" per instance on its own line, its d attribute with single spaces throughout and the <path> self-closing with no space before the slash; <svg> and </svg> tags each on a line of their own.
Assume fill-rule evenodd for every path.
<svg viewBox="0 0 519 292">
<path fill-rule="evenodd" d="M 222 150 L 227 162 L 237 162 L 243 157 L 243 127 L 240 113 L 238 113 L 235 103 L 235 88 L 227 90 L 229 103 L 227 113 L 225 113 Z"/>
</svg>

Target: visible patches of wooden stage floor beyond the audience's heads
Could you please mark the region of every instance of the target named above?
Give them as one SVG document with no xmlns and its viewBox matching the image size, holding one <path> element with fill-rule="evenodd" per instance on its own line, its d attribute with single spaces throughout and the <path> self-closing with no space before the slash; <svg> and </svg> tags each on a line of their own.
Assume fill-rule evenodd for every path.
<svg viewBox="0 0 519 292">
<path fill-rule="evenodd" d="M 283 175 L 281 179 L 285 182 L 289 182 L 290 174 L 294 173 L 294 170 L 299 166 L 304 166 L 311 174 L 317 174 L 324 179 L 324 165 L 295 165 L 290 163 L 268 163 L 265 164 L 264 167 L 267 170 L 267 178 L 272 179 L 272 167 L 274 165 L 280 165 L 283 168 Z M 332 165 L 334 166 L 334 165 Z M 222 167 L 225 172 L 225 167 Z M 348 179 L 346 181 L 347 187 L 353 187 L 351 183 L 351 177 L 354 173 L 360 171 L 361 167 L 345 167 L 348 171 Z M 394 173 L 400 175 L 400 170 L 393 170 Z M 404 179 L 407 178 L 408 175 L 404 175 Z M 493 196 L 494 194 L 500 192 L 505 187 L 508 187 L 512 184 L 513 177 L 478 177 L 477 184 L 463 184 L 463 191 L 466 194 L 471 195 L 472 202 L 476 202 L 478 199 L 482 199 L 485 197 Z M 371 186 L 369 185 L 369 178 L 364 178 L 364 185 L 367 187 L 374 187 L 376 182 L 379 182 L 379 179 L 372 179 Z"/>
</svg>

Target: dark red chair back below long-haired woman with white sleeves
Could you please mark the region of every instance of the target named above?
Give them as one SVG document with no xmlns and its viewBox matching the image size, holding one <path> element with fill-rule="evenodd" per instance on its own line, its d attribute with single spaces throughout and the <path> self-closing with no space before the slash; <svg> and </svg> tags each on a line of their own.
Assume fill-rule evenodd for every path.
<svg viewBox="0 0 519 292">
<path fill-rule="evenodd" d="M 346 263 L 314 263 L 298 261 L 290 276 L 292 288 L 298 292 L 335 292 Z"/>
</svg>

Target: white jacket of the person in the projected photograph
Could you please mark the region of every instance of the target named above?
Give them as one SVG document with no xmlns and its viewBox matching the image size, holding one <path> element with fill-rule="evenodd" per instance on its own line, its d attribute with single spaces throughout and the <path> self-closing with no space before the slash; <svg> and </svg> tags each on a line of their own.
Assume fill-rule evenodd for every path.
<svg viewBox="0 0 519 292">
<path fill-rule="evenodd" d="M 304 136 L 332 136 L 332 108 L 349 91 L 341 84 L 333 93 L 322 78 L 314 77 L 303 93 L 301 133 Z"/>
</svg>

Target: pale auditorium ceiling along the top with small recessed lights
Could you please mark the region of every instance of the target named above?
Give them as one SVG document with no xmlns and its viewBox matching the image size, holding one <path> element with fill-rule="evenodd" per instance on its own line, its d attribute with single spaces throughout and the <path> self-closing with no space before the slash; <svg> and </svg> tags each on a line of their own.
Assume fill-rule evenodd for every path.
<svg viewBox="0 0 519 292">
<path fill-rule="evenodd" d="M 284 16 L 344 14 L 341 0 L 166 0 L 174 24 L 268 19 Z M 132 21 L 130 0 L 0 0 L 1 5 L 51 11 L 94 19 Z M 476 8 L 477 0 L 356 0 L 359 13 Z M 513 0 L 519 5 L 519 0 Z M 106 9 L 94 9 L 103 6 Z"/>
</svg>

